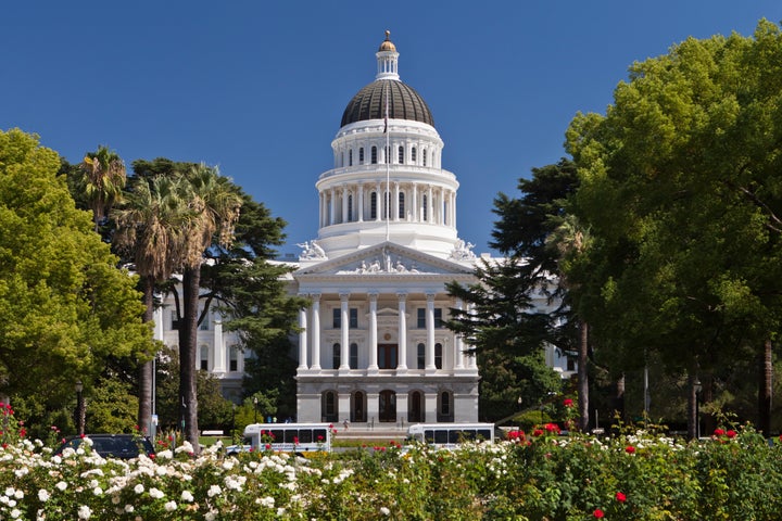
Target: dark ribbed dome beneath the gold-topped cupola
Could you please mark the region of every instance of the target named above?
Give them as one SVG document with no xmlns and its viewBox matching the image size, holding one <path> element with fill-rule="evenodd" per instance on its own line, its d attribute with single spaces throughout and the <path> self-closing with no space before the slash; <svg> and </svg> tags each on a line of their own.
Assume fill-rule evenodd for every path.
<svg viewBox="0 0 782 521">
<path fill-rule="evenodd" d="M 367 119 L 383 119 L 386 92 L 389 92 L 390 118 L 409 119 L 434 126 L 429 106 L 413 87 L 395 79 L 378 79 L 360 90 L 348 103 L 340 127 Z"/>
</svg>

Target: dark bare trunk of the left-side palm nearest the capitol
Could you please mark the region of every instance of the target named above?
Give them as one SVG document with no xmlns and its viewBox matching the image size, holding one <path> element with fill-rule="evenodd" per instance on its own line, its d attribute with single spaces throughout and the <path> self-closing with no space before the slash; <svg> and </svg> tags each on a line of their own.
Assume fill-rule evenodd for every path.
<svg viewBox="0 0 782 521">
<path fill-rule="evenodd" d="M 198 310 L 201 268 L 182 272 L 182 316 L 179 320 L 179 407 L 182 434 L 199 454 L 198 396 L 195 394 L 195 355 L 198 350 Z"/>
</svg>

